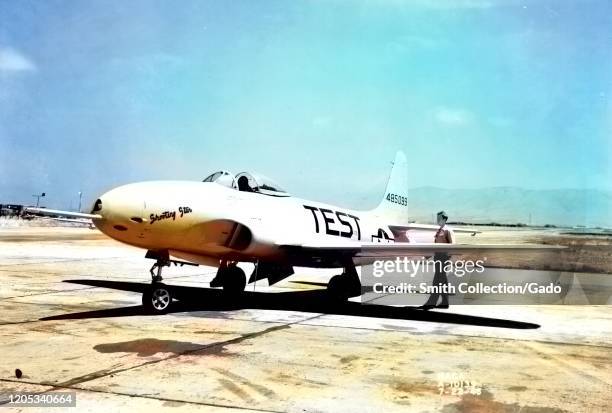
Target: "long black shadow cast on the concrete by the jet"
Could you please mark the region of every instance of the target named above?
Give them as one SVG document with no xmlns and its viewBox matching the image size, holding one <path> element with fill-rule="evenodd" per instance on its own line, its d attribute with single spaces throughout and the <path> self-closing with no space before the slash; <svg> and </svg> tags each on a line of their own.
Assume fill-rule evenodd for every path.
<svg viewBox="0 0 612 413">
<path fill-rule="evenodd" d="M 138 293 L 142 293 L 150 285 L 149 283 L 104 280 L 66 280 L 64 282 Z M 320 289 L 289 292 L 245 291 L 238 300 L 231 300 L 223 293 L 222 290 L 219 289 L 171 285 L 166 286 L 172 289 L 173 296 L 178 300 L 178 302 L 173 303 L 169 311 L 170 313 L 185 311 L 232 311 L 242 309 L 284 310 L 514 329 L 534 329 L 540 327 L 538 324 L 525 323 L 521 321 L 443 313 L 437 311 L 423 311 L 416 307 L 391 307 L 376 304 L 366 305 L 351 301 L 337 303 L 328 298 L 325 290 Z M 41 318 L 41 320 L 74 320 L 137 315 L 146 315 L 141 306 L 129 306 L 62 314 L 44 317 Z"/>
</svg>

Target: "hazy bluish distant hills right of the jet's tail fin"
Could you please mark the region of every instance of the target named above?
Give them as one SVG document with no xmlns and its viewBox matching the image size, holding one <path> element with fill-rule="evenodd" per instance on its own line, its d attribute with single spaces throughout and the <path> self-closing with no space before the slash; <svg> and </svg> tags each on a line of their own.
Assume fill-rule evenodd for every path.
<svg viewBox="0 0 612 413">
<path fill-rule="evenodd" d="M 408 197 L 410 218 L 419 222 L 443 209 L 451 221 L 612 228 L 612 191 L 420 187 Z"/>
</svg>

